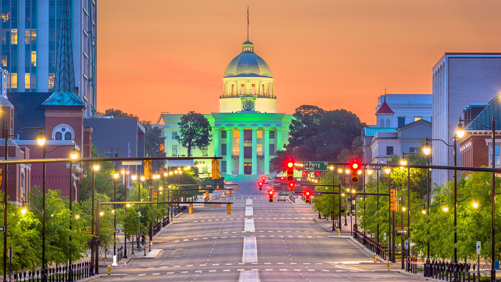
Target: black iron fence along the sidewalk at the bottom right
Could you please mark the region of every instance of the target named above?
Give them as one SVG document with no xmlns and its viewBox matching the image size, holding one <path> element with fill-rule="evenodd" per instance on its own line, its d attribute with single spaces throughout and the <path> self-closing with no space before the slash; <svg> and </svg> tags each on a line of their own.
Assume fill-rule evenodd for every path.
<svg viewBox="0 0 501 282">
<path fill-rule="evenodd" d="M 432 260 L 424 263 L 424 277 L 432 277 L 445 281 L 480 281 L 480 277 L 475 277 L 475 264 L 455 263 L 445 260 Z M 473 273 L 470 272 L 473 270 Z M 473 274 L 473 275 L 471 275 Z"/>
</svg>

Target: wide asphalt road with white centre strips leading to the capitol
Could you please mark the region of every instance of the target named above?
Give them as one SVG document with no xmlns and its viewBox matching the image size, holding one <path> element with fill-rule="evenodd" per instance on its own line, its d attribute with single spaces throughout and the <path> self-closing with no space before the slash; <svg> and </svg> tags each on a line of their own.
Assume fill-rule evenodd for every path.
<svg viewBox="0 0 501 282">
<path fill-rule="evenodd" d="M 245 197 L 246 198 L 246 197 Z M 157 258 L 135 258 L 102 281 L 353 281 L 420 280 L 387 271 L 343 237 L 328 237 L 310 205 L 231 200 L 226 207 L 194 207 L 154 237 Z M 247 231 L 245 231 L 247 230 Z M 394 264 L 395 269 L 399 265 Z M 101 274 L 106 268 L 101 268 Z"/>
</svg>

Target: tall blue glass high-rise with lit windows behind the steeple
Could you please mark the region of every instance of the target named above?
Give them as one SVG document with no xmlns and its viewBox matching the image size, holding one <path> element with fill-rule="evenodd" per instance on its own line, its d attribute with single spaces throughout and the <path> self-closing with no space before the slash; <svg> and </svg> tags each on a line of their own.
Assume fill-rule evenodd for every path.
<svg viewBox="0 0 501 282">
<path fill-rule="evenodd" d="M 96 108 L 96 1 L 65 0 L 70 6 L 73 68 L 85 116 Z M 1 67 L 9 72 L 7 92 L 52 92 L 63 0 L 0 3 Z"/>
</svg>

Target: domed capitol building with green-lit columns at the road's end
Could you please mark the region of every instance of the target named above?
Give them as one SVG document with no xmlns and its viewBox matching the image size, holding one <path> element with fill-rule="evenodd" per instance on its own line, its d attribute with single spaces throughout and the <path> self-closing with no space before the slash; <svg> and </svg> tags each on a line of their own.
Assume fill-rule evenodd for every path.
<svg viewBox="0 0 501 282">
<path fill-rule="evenodd" d="M 203 150 L 192 149 L 191 155 L 223 157 L 220 172 L 226 180 L 257 180 L 262 175 L 275 175 L 270 160 L 275 151 L 288 143 L 293 116 L 277 113 L 272 71 L 254 52 L 252 42 L 241 45 L 241 53 L 227 65 L 222 82 L 219 112 L 205 114 L 212 127 L 212 142 Z M 181 116 L 161 114 L 168 157 L 187 154 L 187 149 L 176 140 Z M 211 172 L 210 163 L 204 161 L 199 172 Z"/>
</svg>

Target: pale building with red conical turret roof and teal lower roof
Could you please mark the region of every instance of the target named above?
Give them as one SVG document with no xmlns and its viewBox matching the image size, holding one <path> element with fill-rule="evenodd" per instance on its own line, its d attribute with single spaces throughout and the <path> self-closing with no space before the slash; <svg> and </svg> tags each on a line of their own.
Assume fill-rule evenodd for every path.
<svg viewBox="0 0 501 282">
<path fill-rule="evenodd" d="M 364 163 L 414 153 L 422 139 L 431 137 L 431 94 L 381 95 L 375 115 L 376 125 L 362 128 Z"/>
</svg>

